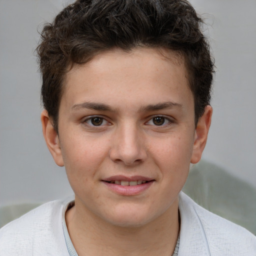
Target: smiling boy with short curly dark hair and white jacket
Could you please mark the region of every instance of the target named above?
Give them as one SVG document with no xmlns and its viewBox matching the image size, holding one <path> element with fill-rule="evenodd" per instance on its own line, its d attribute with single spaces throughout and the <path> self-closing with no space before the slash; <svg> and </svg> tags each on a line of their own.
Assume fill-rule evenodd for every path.
<svg viewBox="0 0 256 256">
<path fill-rule="evenodd" d="M 210 126 L 213 63 L 185 0 L 78 0 L 37 48 L 46 144 L 74 200 L 0 231 L 0 255 L 255 255 L 183 194 Z"/>
</svg>

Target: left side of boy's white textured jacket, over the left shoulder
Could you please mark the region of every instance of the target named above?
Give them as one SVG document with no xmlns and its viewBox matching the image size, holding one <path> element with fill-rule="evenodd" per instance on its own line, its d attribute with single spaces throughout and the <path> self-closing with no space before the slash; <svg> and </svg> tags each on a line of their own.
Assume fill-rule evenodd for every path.
<svg viewBox="0 0 256 256">
<path fill-rule="evenodd" d="M 40 205 L 0 229 L 0 256 L 69 256 L 62 229 L 67 202 Z"/>
</svg>

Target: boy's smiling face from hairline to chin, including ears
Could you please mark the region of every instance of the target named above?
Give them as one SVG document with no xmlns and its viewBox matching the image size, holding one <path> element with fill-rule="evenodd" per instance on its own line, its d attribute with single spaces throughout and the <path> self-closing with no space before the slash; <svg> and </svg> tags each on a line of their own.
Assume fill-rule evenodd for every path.
<svg viewBox="0 0 256 256">
<path fill-rule="evenodd" d="M 65 166 L 80 214 L 138 226 L 177 211 L 207 130 L 195 129 L 182 59 L 161 52 L 168 59 L 159 49 L 114 49 L 74 66 L 64 81 L 58 135 L 44 115 L 46 142 L 51 136 L 48 147 Z"/>
</svg>

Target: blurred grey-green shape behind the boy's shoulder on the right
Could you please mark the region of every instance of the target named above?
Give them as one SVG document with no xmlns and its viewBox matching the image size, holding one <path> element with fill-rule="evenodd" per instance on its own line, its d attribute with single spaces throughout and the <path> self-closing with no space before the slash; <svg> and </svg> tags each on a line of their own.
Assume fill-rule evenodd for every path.
<svg viewBox="0 0 256 256">
<path fill-rule="evenodd" d="M 182 190 L 203 208 L 256 234 L 256 189 L 225 169 L 200 160 Z"/>
</svg>

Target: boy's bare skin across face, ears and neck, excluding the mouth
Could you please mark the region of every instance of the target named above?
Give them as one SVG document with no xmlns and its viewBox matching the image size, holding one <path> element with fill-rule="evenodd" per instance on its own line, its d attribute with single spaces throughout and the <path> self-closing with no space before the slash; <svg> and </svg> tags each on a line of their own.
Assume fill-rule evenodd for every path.
<svg viewBox="0 0 256 256">
<path fill-rule="evenodd" d="M 201 157 L 212 113 L 206 106 L 195 127 L 183 59 L 164 49 L 113 49 L 75 65 L 64 87 L 58 134 L 45 110 L 41 121 L 75 193 L 66 223 L 77 253 L 171 255 L 178 193 Z M 113 175 L 152 181 L 138 194 L 120 194 L 103 181 Z"/>
</svg>

